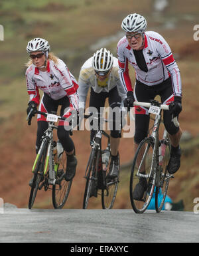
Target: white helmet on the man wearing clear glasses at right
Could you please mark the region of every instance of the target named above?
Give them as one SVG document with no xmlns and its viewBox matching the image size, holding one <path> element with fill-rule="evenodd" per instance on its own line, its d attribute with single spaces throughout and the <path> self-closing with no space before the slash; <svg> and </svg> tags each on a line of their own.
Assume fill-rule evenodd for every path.
<svg viewBox="0 0 199 256">
<path fill-rule="evenodd" d="M 147 27 L 146 19 L 137 14 L 129 14 L 121 23 L 121 28 L 126 32 L 141 32 L 143 33 Z"/>
</svg>

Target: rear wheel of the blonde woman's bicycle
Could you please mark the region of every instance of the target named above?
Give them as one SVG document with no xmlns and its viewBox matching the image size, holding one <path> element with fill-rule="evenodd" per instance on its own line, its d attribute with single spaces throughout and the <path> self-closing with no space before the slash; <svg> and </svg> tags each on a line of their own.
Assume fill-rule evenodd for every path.
<svg viewBox="0 0 199 256">
<path fill-rule="evenodd" d="M 59 157 L 59 164 L 56 172 L 56 184 L 52 186 L 52 204 L 55 209 L 64 207 L 72 185 L 72 180 L 67 182 L 64 179 L 65 171 L 66 154 L 65 152 L 62 152 L 62 155 Z"/>
</svg>

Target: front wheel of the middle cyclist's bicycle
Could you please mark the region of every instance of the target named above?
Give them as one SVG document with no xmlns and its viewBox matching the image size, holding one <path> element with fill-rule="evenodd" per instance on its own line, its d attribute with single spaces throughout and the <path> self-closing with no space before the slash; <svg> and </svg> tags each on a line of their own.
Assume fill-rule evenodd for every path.
<svg viewBox="0 0 199 256">
<path fill-rule="evenodd" d="M 96 184 L 93 185 L 93 183 L 96 182 L 96 154 L 98 154 L 98 150 L 93 148 L 88 163 L 88 173 L 86 175 L 86 187 L 84 191 L 83 209 L 86 209 L 88 207 L 88 201 L 90 199 L 92 186 L 96 186 Z"/>
</svg>

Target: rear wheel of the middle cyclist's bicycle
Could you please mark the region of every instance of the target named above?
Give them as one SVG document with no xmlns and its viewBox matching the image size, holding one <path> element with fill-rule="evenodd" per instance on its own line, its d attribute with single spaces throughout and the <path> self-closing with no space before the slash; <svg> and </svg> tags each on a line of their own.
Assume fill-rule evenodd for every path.
<svg viewBox="0 0 199 256">
<path fill-rule="evenodd" d="M 119 168 L 120 168 L 120 161 L 119 161 Z M 103 209 L 112 209 L 113 204 L 115 203 L 115 197 L 117 194 L 119 177 L 115 179 L 108 178 L 107 176 L 108 169 L 103 175 L 105 176 L 104 179 L 105 179 L 106 188 L 101 190 L 101 206 Z"/>
</svg>

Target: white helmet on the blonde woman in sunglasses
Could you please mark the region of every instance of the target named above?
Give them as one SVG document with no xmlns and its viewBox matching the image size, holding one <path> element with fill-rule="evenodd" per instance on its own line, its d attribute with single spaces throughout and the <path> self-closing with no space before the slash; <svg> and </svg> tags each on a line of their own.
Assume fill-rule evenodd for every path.
<svg viewBox="0 0 199 256">
<path fill-rule="evenodd" d="M 48 41 L 45 39 L 36 37 L 29 41 L 27 45 L 27 53 L 32 53 L 32 52 L 48 52 L 50 51 L 50 45 L 48 44 Z"/>
</svg>

